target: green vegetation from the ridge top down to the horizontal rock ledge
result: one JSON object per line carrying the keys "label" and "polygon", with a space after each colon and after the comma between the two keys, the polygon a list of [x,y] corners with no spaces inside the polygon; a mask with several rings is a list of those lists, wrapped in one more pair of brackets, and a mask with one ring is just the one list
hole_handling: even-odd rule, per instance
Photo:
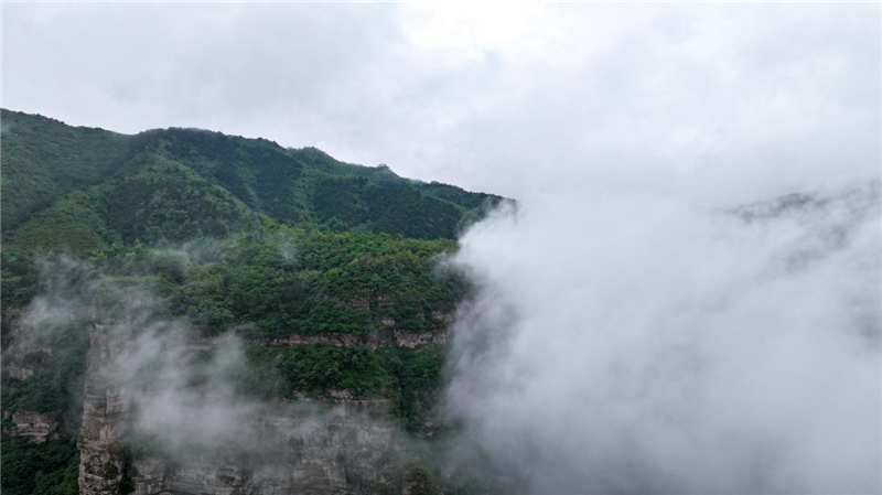
{"label": "green vegetation from the ridge top down to the horizontal rock ledge", "polygon": [[[34,255],[71,252],[153,278],[172,311],[209,331],[439,327],[466,288],[437,273],[437,257],[499,200],[263,139],[1,117],[4,308],[33,297]],[[170,250],[181,243],[218,255]]]}

